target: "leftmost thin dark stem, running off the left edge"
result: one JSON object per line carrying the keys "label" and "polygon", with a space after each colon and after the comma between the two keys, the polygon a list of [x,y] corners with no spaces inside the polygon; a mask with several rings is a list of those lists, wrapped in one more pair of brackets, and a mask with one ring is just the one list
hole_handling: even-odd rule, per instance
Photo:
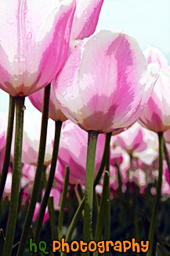
{"label": "leftmost thin dark stem, running off the left edge", "polygon": [[6,133],[6,144],[5,144],[5,156],[2,167],[2,176],[0,182],[0,202],[2,200],[2,195],[5,187],[6,177],[9,170],[9,161],[11,154],[11,144],[13,139],[13,120],[15,113],[15,98],[9,95],[9,119],[8,119],[8,128]]}

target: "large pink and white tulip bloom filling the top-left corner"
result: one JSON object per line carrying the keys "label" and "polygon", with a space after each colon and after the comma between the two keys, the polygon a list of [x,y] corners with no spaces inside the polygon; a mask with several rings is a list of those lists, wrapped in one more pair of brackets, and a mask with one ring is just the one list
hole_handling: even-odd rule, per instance
{"label": "large pink and white tulip bloom filling the top-left corner", "polygon": [[74,0],[0,2],[0,87],[27,96],[60,71],[70,42]]}

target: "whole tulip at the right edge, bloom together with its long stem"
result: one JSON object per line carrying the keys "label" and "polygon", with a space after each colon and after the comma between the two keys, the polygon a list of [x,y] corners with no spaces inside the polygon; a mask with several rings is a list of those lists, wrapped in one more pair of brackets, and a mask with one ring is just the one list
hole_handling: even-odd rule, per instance
{"label": "whole tulip at the right edge, bloom together with its long stem", "polygon": [[[170,69],[165,66],[165,58],[162,57],[158,51],[146,50],[146,58],[148,63],[157,60],[160,67],[160,75],[155,83],[154,90],[147,102],[143,113],[139,119],[140,124],[153,132],[157,132],[159,139],[159,175],[157,180],[157,196],[154,201],[153,213],[150,222],[150,232],[148,239],[150,240],[150,249],[148,256],[152,255],[152,248],[154,244],[154,227],[157,215],[158,203],[161,198],[161,184],[163,173],[163,152],[164,140],[163,132],[170,128]],[[157,58],[155,58],[157,56]]]}

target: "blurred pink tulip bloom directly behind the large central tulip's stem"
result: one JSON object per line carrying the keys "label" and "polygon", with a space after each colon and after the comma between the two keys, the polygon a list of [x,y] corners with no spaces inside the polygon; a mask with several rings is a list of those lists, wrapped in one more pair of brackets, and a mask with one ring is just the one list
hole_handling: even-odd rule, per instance
{"label": "blurred pink tulip bloom directly behind the large central tulip's stem", "polygon": [[[104,143],[105,136],[99,135],[96,147],[95,173],[99,169],[103,156]],[[80,181],[85,181],[87,144],[88,133],[81,130],[78,125],[71,121],[66,121],[66,125],[62,128],[60,136],[60,148],[58,155],[60,165],[57,165],[57,168],[60,168],[61,174],[64,176],[65,166],[70,166],[71,184],[78,184]]]}

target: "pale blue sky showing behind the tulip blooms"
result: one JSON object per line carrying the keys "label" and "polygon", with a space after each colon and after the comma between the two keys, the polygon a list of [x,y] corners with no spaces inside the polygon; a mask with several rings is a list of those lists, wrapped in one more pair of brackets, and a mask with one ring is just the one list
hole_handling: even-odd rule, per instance
{"label": "pale blue sky showing behind the tulip blooms", "polygon": [[[132,35],[142,50],[156,46],[170,65],[170,0],[104,0],[96,31],[101,29]],[[8,112],[8,104],[9,96],[0,89],[0,111]],[[26,107],[31,109],[28,100]]]}

